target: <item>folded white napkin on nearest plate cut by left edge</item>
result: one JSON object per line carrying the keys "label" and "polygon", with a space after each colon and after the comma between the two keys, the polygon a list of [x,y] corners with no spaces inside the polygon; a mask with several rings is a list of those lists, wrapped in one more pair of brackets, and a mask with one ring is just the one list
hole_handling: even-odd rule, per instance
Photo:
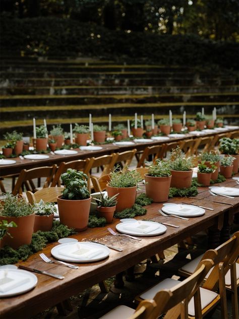
{"label": "folded white napkin on nearest plate cut by left edge", "polygon": [[29,278],[19,278],[16,273],[7,269],[0,271],[0,292],[4,293],[29,282]]}

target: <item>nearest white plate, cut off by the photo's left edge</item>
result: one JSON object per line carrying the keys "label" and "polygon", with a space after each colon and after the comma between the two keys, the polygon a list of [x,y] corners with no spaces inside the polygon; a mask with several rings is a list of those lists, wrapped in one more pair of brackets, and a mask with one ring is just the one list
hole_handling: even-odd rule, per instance
{"label": "nearest white plate, cut off by the photo's left edge", "polygon": [[[37,277],[25,270],[21,269],[1,269],[0,270],[0,286],[3,288],[3,281],[7,276],[7,281],[9,289],[6,288],[6,291],[0,290],[0,298],[12,297],[15,295],[22,294],[34,288],[37,284]],[[3,281],[2,281],[3,280]],[[11,288],[12,287],[12,288]]]}

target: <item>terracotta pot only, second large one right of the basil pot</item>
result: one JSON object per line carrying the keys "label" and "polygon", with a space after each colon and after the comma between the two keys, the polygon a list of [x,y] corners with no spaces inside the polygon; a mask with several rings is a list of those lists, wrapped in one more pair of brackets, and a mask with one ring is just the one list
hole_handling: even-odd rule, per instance
{"label": "terracotta pot only, second large one right of the basil pot", "polygon": [[168,177],[153,177],[145,175],[146,195],[152,198],[153,201],[161,202],[168,200],[169,187],[171,176]]}

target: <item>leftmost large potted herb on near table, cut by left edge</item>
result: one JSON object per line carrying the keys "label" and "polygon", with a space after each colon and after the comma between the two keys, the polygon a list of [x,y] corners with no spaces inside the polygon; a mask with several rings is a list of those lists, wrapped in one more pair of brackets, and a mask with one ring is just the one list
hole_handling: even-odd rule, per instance
{"label": "leftmost large potted herb on near table, cut by left edge", "polygon": [[8,245],[16,249],[31,243],[35,214],[33,207],[24,198],[17,198],[10,193],[4,195],[0,204],[0,222],[3,220],[14,222],[18,227],[9,229],[12,237],[5,236],[1,241],[2,247]]}

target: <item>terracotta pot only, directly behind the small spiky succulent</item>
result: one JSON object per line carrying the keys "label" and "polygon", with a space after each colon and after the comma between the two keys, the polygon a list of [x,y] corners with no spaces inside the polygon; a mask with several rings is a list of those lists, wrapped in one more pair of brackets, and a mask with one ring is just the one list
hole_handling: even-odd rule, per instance
{"label": "terracotta pot only, directly behind the small spiky succulent", "polygon": [[110,197],[118,193],[115,210],[122,211],[123,209],[130,208],[134,205],[137,194],[137,186],[111,187],[107,184],[106,191]]}

